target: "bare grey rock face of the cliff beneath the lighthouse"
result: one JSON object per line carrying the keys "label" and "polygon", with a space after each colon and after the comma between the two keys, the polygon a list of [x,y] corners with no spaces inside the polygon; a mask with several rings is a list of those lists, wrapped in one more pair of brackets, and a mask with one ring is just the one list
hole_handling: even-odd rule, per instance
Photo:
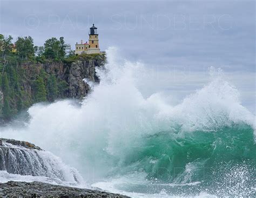
{"label": "bare grey rock face of the cliff beneath the lighthouse", "polygon": [[96,67],[103,67],[105,63],[106,58],[104,54],[79,56],[77,60],[69,63],[57,62],[36,65],[25,63],[22,67],[25,69],[26,76],[29,79],[24,84],[24,89],[31,93],[30,79],[33,79],[33,76],[38,76],[43,69],[46,73],[53,74],[58,79],[68,83],[68,91],[66,91],[65,97],[82,99],[90,91],[90,86],[84,79],[92,83],[98,83],[99,79],[95,69]]}

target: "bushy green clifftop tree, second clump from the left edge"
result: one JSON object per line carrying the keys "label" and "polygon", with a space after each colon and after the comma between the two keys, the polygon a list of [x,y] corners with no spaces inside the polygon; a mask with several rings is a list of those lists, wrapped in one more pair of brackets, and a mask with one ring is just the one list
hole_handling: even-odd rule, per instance
{"label": "bushy green clifftop tree, second clump from the left edge", "polygon": [[18,37],[15,44],[19,57],[22,59],[28,59],[35,56],[35,47],[33,39],[30,36],[24,38]]}

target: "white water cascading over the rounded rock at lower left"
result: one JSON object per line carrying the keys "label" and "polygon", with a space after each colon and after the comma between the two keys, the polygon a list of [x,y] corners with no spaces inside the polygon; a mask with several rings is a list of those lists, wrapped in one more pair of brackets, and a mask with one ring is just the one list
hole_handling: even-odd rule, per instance
{"label": "white water cascading over the rounded rock at lower left", "polygon": [[75,168],[65,165],[52,153],[24,141],[0,139],[0,170],[0,177],[8,175],[14,180],[15,175],[23,175],[23,180],[25,175],[29,175],[30,179],[48,177],[49,181],[60,184],[83,183],[82,176]]}

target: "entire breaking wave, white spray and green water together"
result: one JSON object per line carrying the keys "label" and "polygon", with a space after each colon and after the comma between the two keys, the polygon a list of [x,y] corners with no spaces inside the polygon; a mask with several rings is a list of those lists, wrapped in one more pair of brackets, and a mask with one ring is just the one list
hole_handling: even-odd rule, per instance
{"label": "entire breaking wave, white spray and green water together", "polygon": [[208,85],[172,105],[161,94],[144,98],[137,86],[144,66],[117,57],[109,49],[100,84],[81,106],[34,105],[26,127],[1,136],[48,148],[113,192],[254,196],[255,116],[223,72],[211,68]]}

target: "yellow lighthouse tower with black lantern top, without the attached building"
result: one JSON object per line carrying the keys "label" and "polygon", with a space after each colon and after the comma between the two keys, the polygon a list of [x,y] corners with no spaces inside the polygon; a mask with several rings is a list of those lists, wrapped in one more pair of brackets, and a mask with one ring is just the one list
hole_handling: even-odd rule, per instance
{"label": "yellow lighthouse tower with black lantern top, without the attached building", "polygon": [[100,53],[99,35],[96,26],[92,24],[89,31],[89,49],[87,53]]}

